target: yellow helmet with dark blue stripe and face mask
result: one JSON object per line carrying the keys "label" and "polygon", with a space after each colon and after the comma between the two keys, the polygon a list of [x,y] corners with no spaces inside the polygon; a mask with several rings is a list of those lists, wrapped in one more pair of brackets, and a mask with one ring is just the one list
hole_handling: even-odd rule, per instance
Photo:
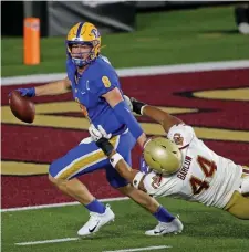
{"label": "yellow helmet with dark blue stripe and face mask", "polygon": [[[92,48],[87,59],[72,56],[72,45],[86,44]],[[84,66],[93,62],[101,52],[101,34],[96,27],[89,22],[80,22],[72,27],[66,38],[66,53],[76,66]]]}

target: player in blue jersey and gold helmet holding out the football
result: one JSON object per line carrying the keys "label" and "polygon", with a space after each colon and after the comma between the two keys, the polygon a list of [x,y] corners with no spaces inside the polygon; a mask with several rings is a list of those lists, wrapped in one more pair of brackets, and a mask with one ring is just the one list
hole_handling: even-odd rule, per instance
{"label": "player in blue jersey and gold helmet holding out the football", "polygon": [[[58,82],[33,88],[19,88],[22,96],[59,95],[72,92],[75,102],[91,125],[102,125],[112,134],[111,143],[131,165],[131,150],[136,141],[143,147],[146,135],[123,99],[118,76],[101,52],[101,35],[89,22],[75,24],[66,39],[68,76]],[[77,179],[79,176],[105,168],[112,187],[128,196],[163,222],[175,219],[155,199],[132,187],[112,168],[107,157],[91,137],[54,160],[49,168],[49,179],[61,191],[81,202],[90,211],[90,220],[79,230],[89,235],[114,220],[114,213],[104,206]]]}

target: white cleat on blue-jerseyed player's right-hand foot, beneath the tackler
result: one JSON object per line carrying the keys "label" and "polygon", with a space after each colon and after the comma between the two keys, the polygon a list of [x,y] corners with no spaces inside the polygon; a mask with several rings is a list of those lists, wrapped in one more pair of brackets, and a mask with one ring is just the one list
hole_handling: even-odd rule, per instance
{"label": "white cleat on blue-jerseyed player's right-hand foot, beneath the tackler", "polygon": [[176,217],[172,222],[159,222],[155,229],[145,232],[146,235],[164,235],[167,233],[181,233],[184,225]]}

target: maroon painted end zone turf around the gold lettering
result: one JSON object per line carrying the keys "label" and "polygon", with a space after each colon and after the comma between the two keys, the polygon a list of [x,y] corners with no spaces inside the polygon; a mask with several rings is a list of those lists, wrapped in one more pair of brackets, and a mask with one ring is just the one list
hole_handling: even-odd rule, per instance
{"label": "maroon painted end zone turf around the gold lettering", "polygon": [[[2,87],[2,105],[8,104],[8,93],[21,85]],[[33,86],[30,84],[30,86]],[[249,103],[242,101],[206,99],[193,97],[193,92],[228,90],[249,86],[249,70],[214,71],[167,74],[156,76],[123,77],[124,93],[153,105],[198,108],[198,113],[184,114],[187,124],[201,127],[249,130]],[[35,103],[70,101],[71,94],[60,97],[35,97]],[[79,114],[80,115],[80,114]],[[77,116],[77,115],[76,115]],[[143,117],[141,122],[149,122]],[[2,159],[49,164],[64,155],[87,136],[85,130],[32,127],[2,124]],[[13,144],[14,143],[14,144]],[[206,140],[219,155],[239,164],[248,164],[248,143]],[[134,166],[138,165],[138,149],[133,151]],[[82,176],[97,198],[121,196],[112,189],[104,172]],[[2,176],[2,208],[72,201],[48,181],[46,176]]]}

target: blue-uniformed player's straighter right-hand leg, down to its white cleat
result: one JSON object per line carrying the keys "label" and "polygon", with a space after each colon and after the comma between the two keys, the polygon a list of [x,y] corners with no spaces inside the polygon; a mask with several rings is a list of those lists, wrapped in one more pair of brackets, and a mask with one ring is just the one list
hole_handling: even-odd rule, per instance
{"label": "blue-uniformed player's straighter right-hand leg, down to its white cleat", "polygon": [[[127,164],[131,166],[131,153],[126,154],[125,150],[134,138],[127,133],[122,136],[122,141],[117,146],[117,151],[124,157]],[[112,187],[120,190],[125,196],[129,197],[136,203],[149,211],[159,223],[154,230],[146,231],[147,235],[163,235],[166,233],[178,233],[183,231],[183,223],[178,218],[172,216],[163,206],[160,206],[154,198],[146,195],[144,191],[132,187],[127,180],[121,177],[121,175],[110,165],[106,167],[106,178]]]}

